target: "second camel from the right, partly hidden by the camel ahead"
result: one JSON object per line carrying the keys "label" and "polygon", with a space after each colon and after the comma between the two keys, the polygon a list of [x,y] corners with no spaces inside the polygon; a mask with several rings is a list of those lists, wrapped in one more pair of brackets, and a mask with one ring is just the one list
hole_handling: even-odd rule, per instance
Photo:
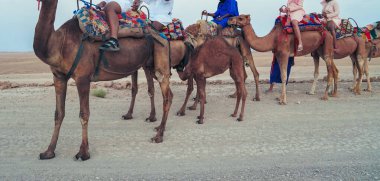
{"label": "second camel from the right, partly hidden by the camel ahead", "polygon": [[[365,49],[365,41],[356,36],[353,35],[352,37],[346,37],[343,39],[340,39],[336,42],[337,47],[339,48],[334,52],[334,59],[342,59],[345,57],[350,56],[352,60],[352,66],[353,66],[353,72],[354,72],[354,85],[352,87],[352,91],[355,94],[360,94],[360,86],[363,79],[363,64],[364,60],[367,57],[367,52]],[[314,59],[314,81],[313,85],[311,86],[310,92],[308,94],[314,95],[315,94],[315,87],[318,81],[319,76],[319,53],[313,52],[312,53],[313,59]],[[359,70],[359,79],[356,79],[355,77],[355,70]],[[337,70],[336,70],[337,71]],[[334,91],[332,96],[337,96],[336,87],[334,86]]]}

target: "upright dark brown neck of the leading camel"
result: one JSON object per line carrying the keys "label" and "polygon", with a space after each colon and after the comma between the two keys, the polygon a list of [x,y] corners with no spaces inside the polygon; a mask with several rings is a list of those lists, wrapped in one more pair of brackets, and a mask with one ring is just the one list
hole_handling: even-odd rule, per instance
{"label": "upright dark brown neck of the leading camel", "polygon": [[54,21],[58,0],[42,0],[41,11],[35,28],[33,48],[38,58],[47,64],[47,59],[52,55],[49,53],[49,40],[54,34]]}

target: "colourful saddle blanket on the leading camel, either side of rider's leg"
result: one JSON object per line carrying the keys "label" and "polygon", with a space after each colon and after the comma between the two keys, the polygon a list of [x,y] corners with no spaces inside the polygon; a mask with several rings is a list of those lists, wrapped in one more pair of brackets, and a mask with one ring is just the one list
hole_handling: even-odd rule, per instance
{"label": "colourful saddle blanket on the leading camel, either side of rider's leg", "polygon": [[[104,13],[95,8],[83,7],[77,11],[76,17],[83,33],[95,40],[104,40],[109,36],[110,27]],[[118,37],[142,36],[142,28],[148,23],[147,16],[142,11],[127,11],[119,15]]]}

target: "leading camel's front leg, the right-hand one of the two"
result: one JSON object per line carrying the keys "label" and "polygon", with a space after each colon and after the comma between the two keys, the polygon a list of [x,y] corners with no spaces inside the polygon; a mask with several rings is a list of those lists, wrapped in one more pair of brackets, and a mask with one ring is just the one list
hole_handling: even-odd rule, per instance
{"label": "leading camel's front leg, the right-hand one of the two", "polygon": [[79,119],[82,124],[82,144],[80,146],[79,152],[75,155],[75,158],[81,159],[83,161],[90,159],[89,145],[88,145],[88,121],[90,118],[90,106],[89,106],[89,95],[90,95],[90,80],[78,79],[75,81],[77,84],[77,89],[79,93],[80,102],[80,113]]}

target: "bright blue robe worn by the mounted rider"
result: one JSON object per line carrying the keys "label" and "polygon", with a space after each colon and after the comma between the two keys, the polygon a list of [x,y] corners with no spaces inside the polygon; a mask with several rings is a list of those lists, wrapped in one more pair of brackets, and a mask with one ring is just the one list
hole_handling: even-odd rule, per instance
{"label": "bright blue robe worn by the mounted rider", "polygon": [[[214,19],[212,20],[214,23],[225,28],[228,26],[228,19],[230,17],[239,16],[239,10],[237,6],[236,0],[225,0],[224,2],[220,2],[218,4],[218,10],[214,13]],[[222,20],[218,20],[218,17],[222,17],[226,14],[229,14],[229,17],[225,17]]]}

